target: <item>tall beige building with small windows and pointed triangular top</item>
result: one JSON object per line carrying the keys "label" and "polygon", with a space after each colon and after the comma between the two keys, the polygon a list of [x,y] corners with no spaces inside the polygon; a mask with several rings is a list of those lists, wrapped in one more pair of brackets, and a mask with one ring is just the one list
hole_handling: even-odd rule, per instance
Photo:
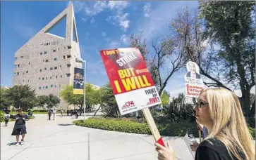
{"label": "tall beige building with small windows and pointed triangular top", "polygon": [[[66,37],[50,34],[49,30],[65,17]],[[80,48],[73,4],[20,47],[15,58],[13,85],[28,84],[37,95],[59,96],[63,86],[73,84],[74,67],[82,67],[75,62]],[[68,109],[66,102],[61,100],[59,109]]]}

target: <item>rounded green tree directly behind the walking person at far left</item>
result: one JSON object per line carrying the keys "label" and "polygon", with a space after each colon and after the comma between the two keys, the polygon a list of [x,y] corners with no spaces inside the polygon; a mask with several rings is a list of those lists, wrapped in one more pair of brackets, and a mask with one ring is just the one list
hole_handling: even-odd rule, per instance
{"label": "rounded green tree directly behind the walking person at far left", "polygon": [[30,109],[37,104],[35,89],[28,85],[16,85],[6,91],[6,97],[12,100],[16,108]]}

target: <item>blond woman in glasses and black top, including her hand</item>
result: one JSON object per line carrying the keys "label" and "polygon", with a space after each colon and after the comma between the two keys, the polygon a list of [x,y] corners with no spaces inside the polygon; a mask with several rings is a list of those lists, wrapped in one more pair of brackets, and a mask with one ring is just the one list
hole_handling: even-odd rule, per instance
{"label": "blond woman in glasses and black top, including her hand", "polygon": [[[255,144],[234,93],[225,88],[203,89],[195,111],[197,123],[208,130],[197,147],[195,160],[255,159]],[[159,160],[174,160],[171,147],[155,145]]]}

